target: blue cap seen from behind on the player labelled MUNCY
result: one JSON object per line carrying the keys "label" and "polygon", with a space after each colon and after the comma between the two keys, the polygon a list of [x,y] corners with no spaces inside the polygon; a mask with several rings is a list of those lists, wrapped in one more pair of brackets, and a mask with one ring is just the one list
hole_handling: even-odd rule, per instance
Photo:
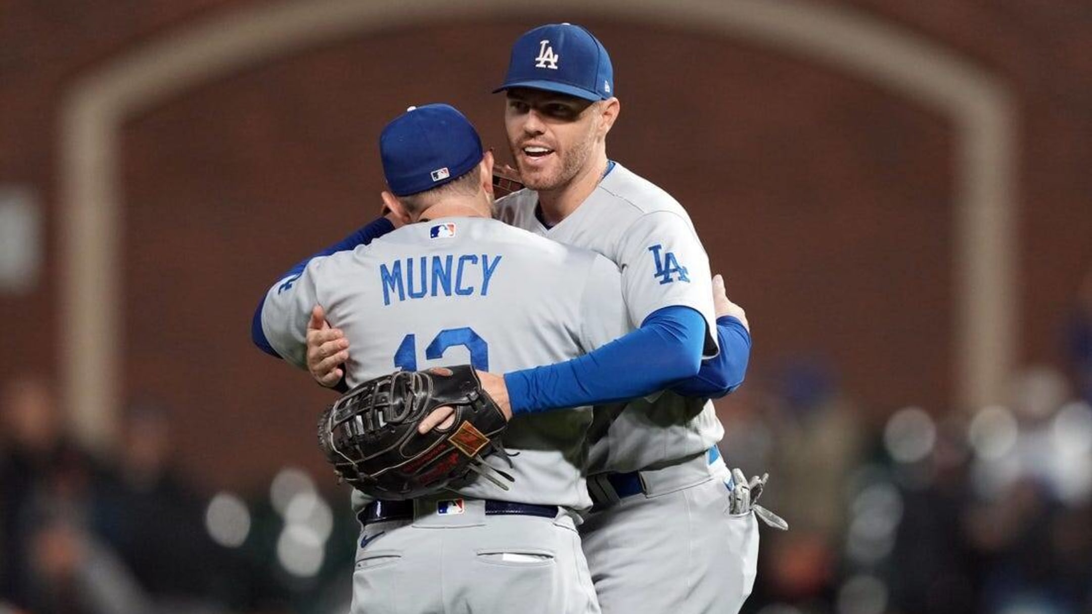
{"label": "blue cap seen from behind on the player labelled MUNCY", "polygon": [[400,197],[453,181],[483,155],[477,130],[451,105],[410,107],[379,135],[387,186]]}

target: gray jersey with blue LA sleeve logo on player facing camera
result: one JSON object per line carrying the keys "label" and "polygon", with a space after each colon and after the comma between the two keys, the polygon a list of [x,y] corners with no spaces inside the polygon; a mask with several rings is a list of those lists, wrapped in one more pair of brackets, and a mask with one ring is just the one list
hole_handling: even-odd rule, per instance
{"label": "gray jersey with blue LA sleeve logo on player facing camera", "polygon": [[[595,191],[556,226],[546,228],[538,221],[537,203],[536,192],[521,190],[497,201],[496,216],[614,261],[621,270],[622,296],[637,326],[663,307],[698,310],[707,323],[705,355],[715,355],[709,257],[690,216],[674,198],[615,164]],[[708,450],[724,435],[711,402],[670,391],[595,412],[589,474],[669,463]]]}

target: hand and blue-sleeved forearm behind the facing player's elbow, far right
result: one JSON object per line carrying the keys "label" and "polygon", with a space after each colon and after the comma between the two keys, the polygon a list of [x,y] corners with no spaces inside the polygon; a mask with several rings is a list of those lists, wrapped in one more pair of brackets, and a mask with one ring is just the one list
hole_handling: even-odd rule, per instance
{"label": "hand and blue-sleeved forearm behind the facing player's elbow, far right", "polygon": [[713,306],[721,351],[701,362],[698,375],[672,386],[674,392],[684,397],[719,399],[739,388],[747,375],[751,349],[747,312],[728,299],[721,275],[713,276]]}

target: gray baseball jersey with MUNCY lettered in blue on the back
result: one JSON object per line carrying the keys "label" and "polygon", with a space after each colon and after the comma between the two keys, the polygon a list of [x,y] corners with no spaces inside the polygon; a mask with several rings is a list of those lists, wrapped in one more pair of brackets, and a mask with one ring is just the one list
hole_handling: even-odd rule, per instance
{"label": "gray baseball jersey with MUNCY lettered in blue on the back", "polygon": [[[488,219],[412,224],[353,251],[311,260],[270,288],[262,328],[288,362],[306,367],[311,308],[344,331],[349,386],[397,368],[473,364],[506,373],[566,361],[629,330],[609,260]],[[519,415],[505,433],[515,482],[477,480],[468,497],[584,508],[581,476],[592,412]]]}

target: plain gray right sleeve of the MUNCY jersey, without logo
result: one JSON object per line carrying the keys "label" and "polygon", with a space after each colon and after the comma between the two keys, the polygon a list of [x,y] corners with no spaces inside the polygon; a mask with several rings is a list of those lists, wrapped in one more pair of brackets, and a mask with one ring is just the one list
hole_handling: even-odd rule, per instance
{"label": "plain gray right sleeve of the MUNCY jersey, without logo", "polygon": [[610,259],[596,255],[580,299],[580,343],[591,352],[633,330],[621,294],[621,273]]}

